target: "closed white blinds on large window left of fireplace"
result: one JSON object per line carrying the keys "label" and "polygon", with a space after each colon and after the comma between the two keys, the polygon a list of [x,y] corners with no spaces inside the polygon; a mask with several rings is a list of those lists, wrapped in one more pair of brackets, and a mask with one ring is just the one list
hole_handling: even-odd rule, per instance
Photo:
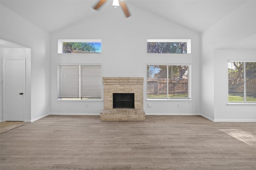
{"label": "closed white blinds on large window left of fireplace", "polygon": [[100,100],[101,65],[58,65],[58,99]]}

